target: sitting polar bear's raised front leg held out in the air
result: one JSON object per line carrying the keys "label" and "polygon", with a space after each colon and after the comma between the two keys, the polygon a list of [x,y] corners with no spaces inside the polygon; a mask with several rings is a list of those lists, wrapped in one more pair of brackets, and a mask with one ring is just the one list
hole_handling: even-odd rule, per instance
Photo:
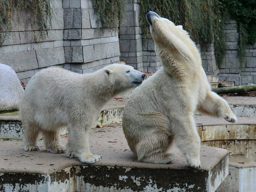
{"label": "sitting polar bear's raised front leg held out in the air", "polygon": [[237,121],[237,117],[231,111],[228,103],[212,91],[207,92],[205,99],[199,104],[197,110],[207,115],[223,117],[231,123]]}

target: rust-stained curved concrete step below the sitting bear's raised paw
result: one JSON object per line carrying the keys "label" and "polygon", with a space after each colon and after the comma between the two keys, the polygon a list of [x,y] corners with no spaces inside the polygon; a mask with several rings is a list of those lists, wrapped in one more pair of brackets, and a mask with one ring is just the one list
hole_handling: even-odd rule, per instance
{"label": "rust-stained curved concrete step below the sitting bear's raised paw", "polygon": [[238,117],[237,123],[222,118],[196,115],[201,144],[225,148],[230,155],[244,155],[256,161],[256,117]]}

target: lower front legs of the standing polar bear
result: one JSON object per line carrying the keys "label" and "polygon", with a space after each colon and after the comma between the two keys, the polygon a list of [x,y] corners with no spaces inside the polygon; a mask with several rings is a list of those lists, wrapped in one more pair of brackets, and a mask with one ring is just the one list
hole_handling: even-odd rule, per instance
{"label": "lower front legs of the standing polar bear", "polygon": [[82,163],[95,163],[100,161],[102,157],[90,152],[89,145],[90,129],[79,129],[74,131],[69,129],[69,141],[67,143],[66,156],[70,158],[78,158]]}

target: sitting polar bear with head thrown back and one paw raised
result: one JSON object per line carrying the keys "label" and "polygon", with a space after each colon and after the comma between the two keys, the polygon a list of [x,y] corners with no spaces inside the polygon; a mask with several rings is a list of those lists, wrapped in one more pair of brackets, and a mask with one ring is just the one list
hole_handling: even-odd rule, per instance
{"label": "sitting polar bear with head thrown back and one paw raised", "polygon": [[139,161],[174,160],[175,141],[188,164],[200,167],[200,137],[194,113],[237,121],[228,103],[211,92],[195,43],[182,26],[147,11],[146,19],[162,67],[136,88],[123,110],[123,131]]}

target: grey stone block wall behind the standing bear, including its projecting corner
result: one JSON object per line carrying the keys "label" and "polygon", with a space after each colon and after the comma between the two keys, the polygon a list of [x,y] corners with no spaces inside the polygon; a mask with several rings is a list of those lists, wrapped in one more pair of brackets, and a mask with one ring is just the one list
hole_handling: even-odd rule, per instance
{"label": "grey stone block wall behind the standing bear, including its projecting corner", "polygon": [[0,47],[0,63],[11,66],[22,82],[45,67],[88,73],[119,61],[118,28],[97,25],[92,0],[55,0],[53,9],[52,25],[45,38],[37,39],[40,43],[20,12]]}

